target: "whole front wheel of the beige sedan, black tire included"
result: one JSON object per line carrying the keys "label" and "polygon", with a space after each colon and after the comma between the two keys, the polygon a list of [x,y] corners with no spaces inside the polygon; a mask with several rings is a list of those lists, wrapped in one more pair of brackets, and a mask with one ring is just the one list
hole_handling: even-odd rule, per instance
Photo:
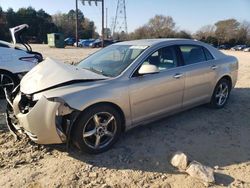
{"label": "whole front wheel of the beige sedan, black tire included", "polygon": [[73,143],[82,151],[98,154],[110,149],[121,135],[121,116],[109,105],[83,111],[73,127]]}

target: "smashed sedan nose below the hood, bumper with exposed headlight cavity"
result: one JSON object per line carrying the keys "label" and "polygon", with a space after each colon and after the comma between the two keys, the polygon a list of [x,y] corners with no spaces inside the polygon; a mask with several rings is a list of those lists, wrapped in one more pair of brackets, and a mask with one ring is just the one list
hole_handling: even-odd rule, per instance
{"label": "smashed sedan nose below the hood, bumper with exposed headlight cavity", "polygon": [[7,95],[7,125],[16,138],[19,132],[38,144],[59,144],[69,140],[71,126],[79,112],[62,99],[42,96],[34,100],[32,95],[20,91]]}

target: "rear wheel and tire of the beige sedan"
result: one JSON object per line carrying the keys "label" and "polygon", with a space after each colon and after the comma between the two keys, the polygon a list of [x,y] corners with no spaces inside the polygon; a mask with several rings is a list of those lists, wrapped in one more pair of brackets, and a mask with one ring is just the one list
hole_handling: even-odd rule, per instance
{"label": "rear wheel and tire of the beige sedan", "polygon": [[221,79],[215,86],[213,96],[210,101],[210,106],[216,109],[223,108],[228,101],[230,92],[230,82],[227,79]]}

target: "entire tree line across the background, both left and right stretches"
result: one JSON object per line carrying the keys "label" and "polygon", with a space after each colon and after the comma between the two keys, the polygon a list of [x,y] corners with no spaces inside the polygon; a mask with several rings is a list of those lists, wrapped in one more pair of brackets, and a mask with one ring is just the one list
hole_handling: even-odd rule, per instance
{"label": "entire tree line across the background, both left and right stretches", "polygon": [[[95,23],[85,17],[81,10],[78,11],[78,18],[79,38],[99,37]],[[0,40],[10,41],[9,28],[23,23],[30,26],[28,38],[39,43],[47,42],[47,33],[60,32],[65,37],[75,36],[75,10],[49,15],[43,9],[36,11],[32,7],[20,8],[16,12],[11,8],[3,11],[0,7]],[[105,31],[110,37],[110,29],[105,28]],[[113,34],[113,39],[116,40],[145,38],[195,38],[216,46],[250,45],[250,22],[239,22],[236,19],[220,20],[214,25],[203,26],[196,33],[191,34],[185,30],[179,30],[171,16],[156,15],[131,33]]]}

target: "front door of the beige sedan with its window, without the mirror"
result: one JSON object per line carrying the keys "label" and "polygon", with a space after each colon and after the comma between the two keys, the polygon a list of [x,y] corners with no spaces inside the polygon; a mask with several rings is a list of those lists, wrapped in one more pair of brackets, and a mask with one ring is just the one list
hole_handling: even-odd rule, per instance
{"label": "front door of the beige sedan with its window, without the mirror", "polygon": [[139,75],[130,79],[129,94],[133,123],[180,109],[185,75],[179,66],[176,47],[164,47],[149,55],[141,65],[157,66],[159,73]]}

